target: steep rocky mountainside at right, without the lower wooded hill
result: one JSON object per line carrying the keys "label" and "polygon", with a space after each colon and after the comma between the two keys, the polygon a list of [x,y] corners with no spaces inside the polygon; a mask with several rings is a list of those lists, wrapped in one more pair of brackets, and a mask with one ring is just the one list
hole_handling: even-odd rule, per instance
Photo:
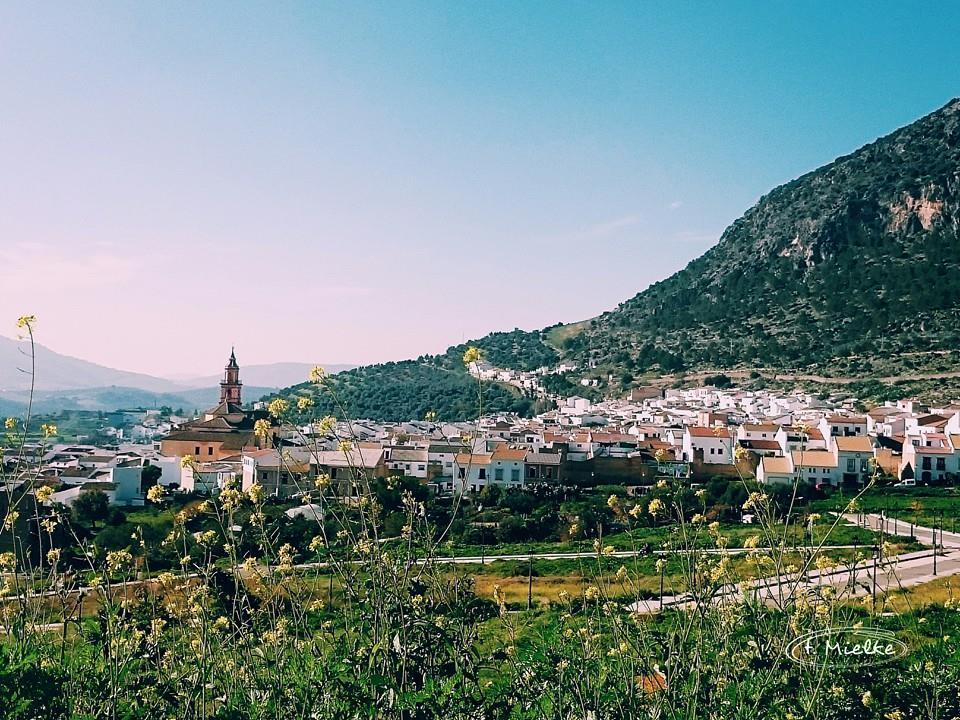
{"label": "steep rocky mountainside at right, without the lower wooded hill", "polygon": [[650,365],[806,364],[960,339],[960,100],[776,188],[568,353]]}

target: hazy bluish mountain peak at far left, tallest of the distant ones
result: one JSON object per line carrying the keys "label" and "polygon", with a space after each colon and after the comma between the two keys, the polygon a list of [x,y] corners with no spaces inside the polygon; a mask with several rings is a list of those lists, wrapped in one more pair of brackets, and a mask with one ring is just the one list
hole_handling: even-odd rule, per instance
{"label": "hazy bluish mountain peak at far left, tallest of the distant ones", "polygon": [[[29,346],[26,342],[0,336],[0,391],[22,391],[30,387]],[[141,373],[115,370],[79,358],[61,355],[43,345],[35,349],[38,390],[73,390],[117,385],[151,392],[183,389],[169,380]]]}

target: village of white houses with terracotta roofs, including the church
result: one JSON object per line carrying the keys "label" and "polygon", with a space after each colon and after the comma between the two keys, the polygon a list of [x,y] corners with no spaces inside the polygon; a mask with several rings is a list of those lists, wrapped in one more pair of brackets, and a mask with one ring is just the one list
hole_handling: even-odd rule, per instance
{"label": "village of white houses with terracotta roofs, including the church", "polygon": [[[535,373],[488,366],[473,372],[491,382],[536,382]],[[297,427],[272,416],[263,402],[244,409],[231,354],[216,407],[194,418],[169,409],[118,411],[104,417],[116,423],[102,431],[113,442],[28,444],[31,466],[19,472],[53,489],[48,504],[67,507],[88,490],[104,492],[111,504],[142,505],[154,484],[201,495],[234,483],[244,490],[259,485],[288,499],[318,476],[348,497],[360,475],[411,478],[444,495],[487,486],[611,484],[643,493],[664,477],[755,478],[765,485],[799,479],[829,493],[863,487],[875,475],[911,487],[953,485],[960,474],[957,403],[929,407],[906,399],[858,412],[856,399],[825,401],[802,391],[653,385],[623,399],[555,402],[554,410],[533,418]]]}

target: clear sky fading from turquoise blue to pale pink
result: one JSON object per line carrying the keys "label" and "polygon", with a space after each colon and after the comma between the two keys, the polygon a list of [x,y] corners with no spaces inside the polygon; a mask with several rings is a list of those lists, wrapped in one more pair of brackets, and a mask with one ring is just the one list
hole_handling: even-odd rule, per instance
{"label": "clear sky fading from turquoise blue to pale pink", "polygon": [[0,335],[154,375],[595,316],[960,95],[960,4],[0,4]]}

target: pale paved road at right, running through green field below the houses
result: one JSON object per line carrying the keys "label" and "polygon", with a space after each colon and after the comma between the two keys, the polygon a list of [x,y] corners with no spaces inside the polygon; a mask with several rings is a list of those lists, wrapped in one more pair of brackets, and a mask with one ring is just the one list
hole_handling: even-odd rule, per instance
{"label": "pale paved road at right, running through green field below the houses", "polygon": [[[852,525],[858,524],[856,515],[843,517]],[[860,523],[861,525],[874,530],[885,528],[886,523],[892,526],[892,521],[880,515],[868,514],[860,517],[864,521]],[[872,559],[867,559],[850,569],[812,571],[805,578],[780,576],[755,580],[747,585],[745,591],[735,586],[728,586],[721,588],[714,597],[714,601],[742,598],[746,592],[749,596],[761,599],[768,604],[782,606],[792,597],[816,593],[818,588],[827,585],[833,586],[838,594],[845,597],[863,597],[874,593],[879,595],[889,590],[909,588],[960,573],[960,534],[945,532],[941,542],[940,531],[937,530],[939,552],[936,556],[932,549],[933,534],[932,528],[914,526],[914,536],[920,542],[931,545],[931,549],[899,555],[876,565]],[[936,574],[934,574],[934,568],[936,568]],[[679,608],[690,604],[689,596],[669,595],[664,596],[662,603],[659,599],[641,600],[634,603],[631,609],[641,613],[654,613],[661,607]]]}

